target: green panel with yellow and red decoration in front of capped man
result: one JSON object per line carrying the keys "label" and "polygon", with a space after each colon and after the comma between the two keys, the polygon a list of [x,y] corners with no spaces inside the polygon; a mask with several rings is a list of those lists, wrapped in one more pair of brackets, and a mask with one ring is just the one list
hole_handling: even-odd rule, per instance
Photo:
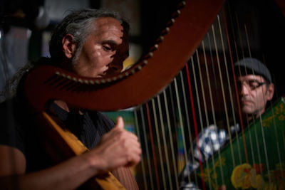
{"label": "green panel with yellow and red decoration in front of capped man", "polygon": [[197,174],[210,189],[219,189],[222,184],[227,189],[285,189],[284,98],[205,162]]}

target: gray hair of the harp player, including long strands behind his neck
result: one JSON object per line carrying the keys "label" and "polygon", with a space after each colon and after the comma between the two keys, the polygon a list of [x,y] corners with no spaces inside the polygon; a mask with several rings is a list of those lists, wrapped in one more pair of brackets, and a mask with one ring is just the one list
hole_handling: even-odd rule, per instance
{"label": "gray hair of the harp player, including long strands behind his neck", "polygon": [[[79,53],[81,52],[83,43],[86,41],[86,37],[93,30],[93,21],[100,17],[111,17],[117,19],[122,24],[124,29],[123,43],[128,47],[130,25],[118,13],[99,9],[81,9],[71,11],[71,14],[68,14],[68,16],[66,16],[53,30],[51,41],[49,43],[51,59],[41,58],[36,61],[28,62],[23,68],[20,68],[10,80],[6,81],[4,90],[0,91],[0,102],[17,94],[18,85],[22,76],[28,73],[28,70],[33,68],[34,65],[56,65],[63,61],[64,54],[62,49],[62,39],[66,34],[73,35],[74,43],[76,43],[76,53],[73,60],[71,60],[72,63],[75,63]],[[128,52],[126,53],[128,54]],[[128,57],[128,55],[124,56],[124,58],[126,57]]]}

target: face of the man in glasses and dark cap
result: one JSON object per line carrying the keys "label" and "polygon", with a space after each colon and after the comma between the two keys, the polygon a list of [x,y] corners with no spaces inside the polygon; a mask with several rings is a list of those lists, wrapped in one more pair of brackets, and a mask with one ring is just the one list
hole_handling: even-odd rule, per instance
{"label": "face of the man in glasses and dark cap", "polygon": [[266,102],[273,96],[274,87],[271,85],[267,88],[264,78],[260,75],[239,76],[237,86],[242,113],[261,115],[265,110]]}

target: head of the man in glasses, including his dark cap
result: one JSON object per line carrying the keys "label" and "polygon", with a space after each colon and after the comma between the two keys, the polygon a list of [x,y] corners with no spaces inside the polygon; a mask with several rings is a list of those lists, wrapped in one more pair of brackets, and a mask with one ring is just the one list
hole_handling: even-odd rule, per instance
{"label": "head of the man in glasses, including his dark cap", "polygon": [[250,122],[259,117],[274,95],[274,84],[266,66],[255,58],[234,63],[242,114]]}

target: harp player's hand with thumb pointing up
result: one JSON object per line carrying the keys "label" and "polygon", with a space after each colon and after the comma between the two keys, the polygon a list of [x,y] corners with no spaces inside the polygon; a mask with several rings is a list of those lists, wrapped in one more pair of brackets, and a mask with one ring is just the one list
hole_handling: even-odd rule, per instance
{"label": "harp player's hand with thumb pointing up", "polygon": [[115,127],[103,135],[90,154],[94,169],[101,173],[138,164],[141,152],[138,137],[124,130],[123,118],[118,117]]}

